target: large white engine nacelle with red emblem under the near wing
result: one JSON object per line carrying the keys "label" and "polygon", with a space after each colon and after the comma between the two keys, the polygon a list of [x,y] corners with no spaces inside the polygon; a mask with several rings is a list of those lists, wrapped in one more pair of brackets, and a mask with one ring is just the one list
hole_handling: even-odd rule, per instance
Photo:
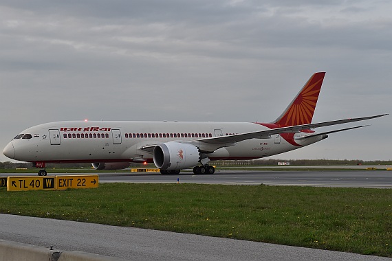
{"label": "large white engine nacelle with red emblem under the near wing", "polygon": [[182,170],[197,165],[199,149],[190,144],[166,142],[155,146],[153,159],[161,170]]}

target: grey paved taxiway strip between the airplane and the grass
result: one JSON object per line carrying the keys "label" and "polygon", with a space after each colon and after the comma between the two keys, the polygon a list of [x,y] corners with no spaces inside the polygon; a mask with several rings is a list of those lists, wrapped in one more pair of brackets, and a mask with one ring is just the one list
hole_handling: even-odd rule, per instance
{"label": "grey paved taxiway strip between the airplane and the grass", "polygon": [[300,185],[316,187],[392,188],[392,171],[246,171],[218,170],[215,174],[101,174],[100,182],[206,183],[227,185]]}

